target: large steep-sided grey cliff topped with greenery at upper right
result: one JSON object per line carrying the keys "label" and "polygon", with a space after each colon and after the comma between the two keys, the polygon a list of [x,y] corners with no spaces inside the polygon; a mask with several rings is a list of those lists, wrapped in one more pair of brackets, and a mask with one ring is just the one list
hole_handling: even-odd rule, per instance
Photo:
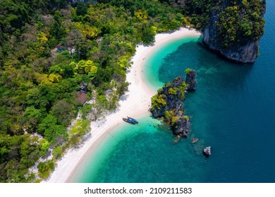
{"label": "large steep-sided grey cliff topped with greenery at upper right", "polygon": [[254,63],[264,34],[265,0],[213,1],[204,43],[226,58]]}

